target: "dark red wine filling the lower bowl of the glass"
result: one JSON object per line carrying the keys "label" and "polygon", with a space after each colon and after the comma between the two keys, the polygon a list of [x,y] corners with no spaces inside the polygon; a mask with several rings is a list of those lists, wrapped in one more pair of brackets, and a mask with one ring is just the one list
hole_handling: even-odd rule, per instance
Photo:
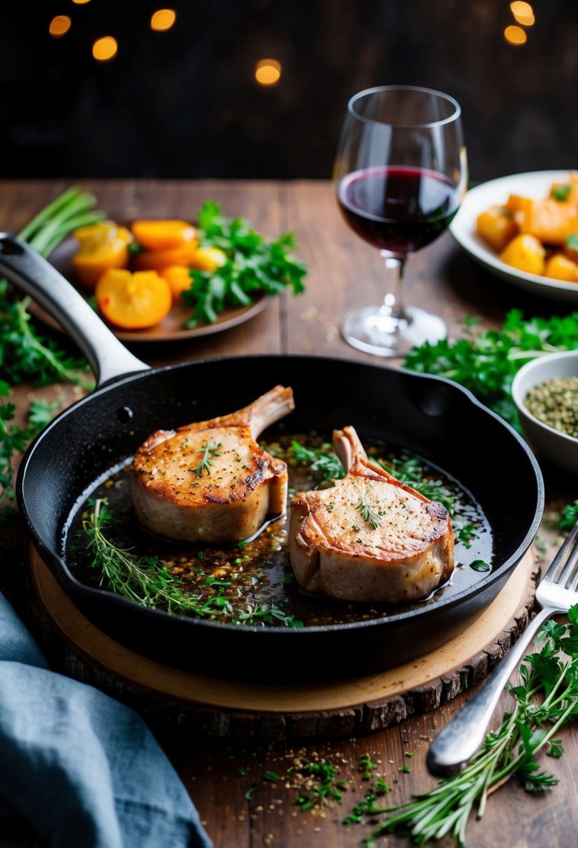
{"label": "dark red wine filling the lower bowl of the glass", "polygon": [[353,232],[400,257],[433,242],[459,209],[458,188],[425,168],[355,171],[342,180],[337,199]]}

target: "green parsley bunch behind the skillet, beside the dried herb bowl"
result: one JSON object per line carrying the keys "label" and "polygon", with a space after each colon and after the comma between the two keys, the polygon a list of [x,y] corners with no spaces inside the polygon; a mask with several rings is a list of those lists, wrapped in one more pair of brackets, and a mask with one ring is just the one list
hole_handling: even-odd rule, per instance
{"label": "green parsley bunch behind the skillet, beside the dried herb bowl", "polygon": [[475,397],[520,429],[510,389],[522,365],[542,354],[578,348],[578,312],[565,317],[531,318],[510,310],[500,330],[475,332],[479,319],[464,318],[466,335],[410,350],[410,371],[459,382]]}

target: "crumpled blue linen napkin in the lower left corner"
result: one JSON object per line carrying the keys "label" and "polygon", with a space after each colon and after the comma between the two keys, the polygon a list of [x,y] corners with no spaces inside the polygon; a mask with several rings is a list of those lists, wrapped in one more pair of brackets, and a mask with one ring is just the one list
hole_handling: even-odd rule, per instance
{"label": "crumpled blue linen napkin in the lower left corner", "polygon": [[0,815],[50,848],[210,848],[136,712],[51,672],[0,594]]}

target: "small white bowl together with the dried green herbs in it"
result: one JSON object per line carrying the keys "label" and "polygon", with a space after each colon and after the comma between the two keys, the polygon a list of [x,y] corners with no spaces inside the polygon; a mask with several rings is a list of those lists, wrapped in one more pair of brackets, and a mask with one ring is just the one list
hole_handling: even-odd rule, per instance
{"label": "small white bowl together with the dried green herbs in it", "polygon": [[523,365],[512,398],[536,455],[578,474],[578,350],[544,354]]}

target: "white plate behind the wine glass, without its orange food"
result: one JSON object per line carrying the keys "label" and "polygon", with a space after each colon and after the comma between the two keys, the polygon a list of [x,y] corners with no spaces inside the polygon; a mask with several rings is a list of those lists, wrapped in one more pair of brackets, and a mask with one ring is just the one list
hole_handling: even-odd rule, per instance
{"label": "white plate behind the wine glass, without its orange food", "polygon": [[466,193],[458,214],[449,226],[460,247],[487,271],[503,277],[514,286],[555,300],[578,304],[578,283],[553,280],[537,274],[526,274],[511,265],[505,265],[480,237],[475,234],[475,220],[481,212],[491,206],[504,204],[510,194],[524,197],[547,198],[553,182],[567,182],[569,170],[536,170],[528,174],[502,176],[470,188]]}

